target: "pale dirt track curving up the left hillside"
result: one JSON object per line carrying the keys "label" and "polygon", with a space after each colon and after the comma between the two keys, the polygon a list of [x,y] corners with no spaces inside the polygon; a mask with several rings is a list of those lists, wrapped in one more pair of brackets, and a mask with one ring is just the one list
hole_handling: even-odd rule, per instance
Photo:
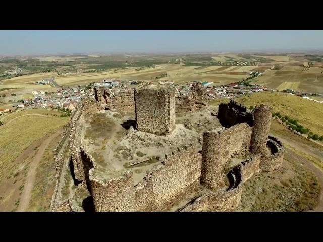
{"label": "pale dirt track curving up the left hillside", "polygon": [[[30,115],[30,114],[27,114],[27,115]],[[56,131],[55,133],[50,135],[47,139],[45,139],[42,142],[42,144],[38,147],[38,151],[37,151],[33,161],[30,163],[30,169],[28,170],[28,174],[27,174],[26,181],[25,181],[25,186],[22,191],[22,195],[20,198],[20,203],[19,203],[19,207],[18,207],[17,211],[22,212],[22,211],[27,210],[28,205],[29,205],[29,201],[31,198],[31,191],[32,191],[33,184],[35,181],[37,166],[41,160],[41,157],[43,156],[43,154],[45,152],[45,149],[49,145],[50,141],[53,138],[55,138],[56,136],[60,135],[61,132],[62,132],[61,130]]]}

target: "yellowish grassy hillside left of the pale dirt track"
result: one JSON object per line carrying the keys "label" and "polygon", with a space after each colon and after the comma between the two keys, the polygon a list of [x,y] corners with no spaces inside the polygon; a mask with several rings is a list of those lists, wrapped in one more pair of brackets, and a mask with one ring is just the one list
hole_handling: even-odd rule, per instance
{"label": "yellowish grassy hillside left of the pale dirt track", "polygon": [[[49,115],[46,115],[49,114]],[[28,151],[28,147],[45,137],[49,133],[55,132],[59,127],[68,122],[68,118],[56,117],[60,115],[58,111],[45,109],[32,109],[9,114],[1,119],[3,125],[0,126],[0,211],[15,210],[19,206],[22,190],[18,188],[24,186],[25,179],[32,162],[32,153],[35,149]],[[24,152],[26,154],[24,154]],[[17,158],[21,156],[18,160]],[[32,167],[36,169],[37,167]],[[8,193],[12,189],[13,193]],[[15,199],[16,204],[12,202]]]}

